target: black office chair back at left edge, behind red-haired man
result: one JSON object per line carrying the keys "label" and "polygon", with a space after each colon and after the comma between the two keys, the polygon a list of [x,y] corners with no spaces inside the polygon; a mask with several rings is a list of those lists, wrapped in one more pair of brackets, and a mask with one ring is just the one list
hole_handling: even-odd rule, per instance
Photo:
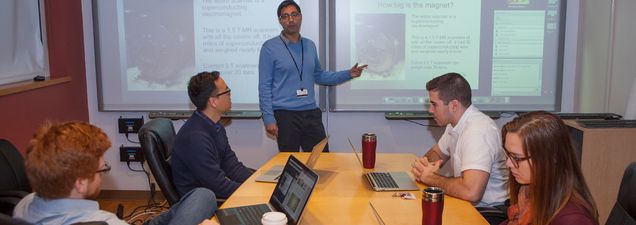
{"label": "black office chair back at left edge, behind red-haired man", "polygon": [[0,139],[0,213],[13,215],[15,205],[30,192],[22,155],[11,142]]}

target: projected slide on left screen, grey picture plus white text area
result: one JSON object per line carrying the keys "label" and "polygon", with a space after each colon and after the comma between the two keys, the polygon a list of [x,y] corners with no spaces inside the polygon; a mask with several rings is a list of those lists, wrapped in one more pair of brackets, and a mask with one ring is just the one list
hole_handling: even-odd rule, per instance
{"label": "projected slide on left screen, grey picture plus white text area", "polygon": [[[196,72],[218,70],[233,84],[234,93],[254,93],[260,46],[280,32],[275,1],[120,4],[126,27],[128,91],[185,91]],[[155,9],[149,10],[149,5]],[[254,103],[258,98],[237,94],[233,101]]]}

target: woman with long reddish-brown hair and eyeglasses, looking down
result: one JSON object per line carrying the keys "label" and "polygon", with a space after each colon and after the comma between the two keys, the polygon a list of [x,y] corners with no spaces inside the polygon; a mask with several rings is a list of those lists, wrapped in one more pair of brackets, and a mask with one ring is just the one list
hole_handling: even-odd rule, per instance
{"label": "woman with long reddish-brown hair and eyeglasses, looking down", "polygon": [[596,205],[560,118],[547,112],[523,114],[501,133],[512,204],[502,224],[598,224]]}

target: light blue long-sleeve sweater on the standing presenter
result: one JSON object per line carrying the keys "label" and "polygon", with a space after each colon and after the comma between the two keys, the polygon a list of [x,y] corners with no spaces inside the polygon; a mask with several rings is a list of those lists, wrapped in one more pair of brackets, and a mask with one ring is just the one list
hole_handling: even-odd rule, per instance
{"label": "light blue long-sleeve sweater on the standing presenter", "polygon": [[[302,69],[302,82],[299,69]],[[269,125],[276,123],[274,110],[315,109],[314,83],[336,85],[350,80],[351,74],[349,70],[323,71],[313,41],[301,37],[300,41],[294,43],[279,35],[263,43],[258,62],[258,78],[258,98],[263,122]],[[301,88],[308,91],[307,96],[296,96],[296,91]]]}

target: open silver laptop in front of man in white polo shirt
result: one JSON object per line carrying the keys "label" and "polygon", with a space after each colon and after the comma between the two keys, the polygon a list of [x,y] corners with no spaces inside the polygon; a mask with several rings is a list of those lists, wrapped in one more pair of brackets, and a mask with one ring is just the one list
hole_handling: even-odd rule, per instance
{"label": "open silver laptop in front of man in white polo shirt", "polygon": [[[353,150],[353,154],[358,158],[358,163],[360,167],[364,169],[362,166],[362,160],[358,156],[358,152],[356,148],[353,147],[353,143],[351,143],[351,139],[349,139],[349,145],[351,145],[351,149]],[[369,181],[371,188],[374,191],[414,191],[419,190],[415,182],[411,180],[411,177],[406,172],[365,172],[364,176]]]}

